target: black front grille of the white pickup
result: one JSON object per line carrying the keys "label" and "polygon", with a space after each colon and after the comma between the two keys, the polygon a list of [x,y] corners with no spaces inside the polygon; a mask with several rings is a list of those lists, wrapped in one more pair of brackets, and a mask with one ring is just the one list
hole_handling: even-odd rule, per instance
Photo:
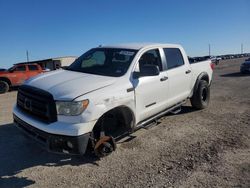
{"label": "black front grille of the white pickup", "polygon": [[46,123],[57,121],[56,104],[47,91],[22,85],[18,89],[17,107]]}

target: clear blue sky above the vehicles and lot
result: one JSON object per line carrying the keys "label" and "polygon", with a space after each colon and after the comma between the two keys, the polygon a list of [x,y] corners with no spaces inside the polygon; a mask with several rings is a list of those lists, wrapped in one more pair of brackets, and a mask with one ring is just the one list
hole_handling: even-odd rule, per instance
{"label": "clear blue sky above the vehicles and lot", "polygon": [[181,44],[189,56],[250,53],[250,0],[0,0],[0,67],[99,45]]}

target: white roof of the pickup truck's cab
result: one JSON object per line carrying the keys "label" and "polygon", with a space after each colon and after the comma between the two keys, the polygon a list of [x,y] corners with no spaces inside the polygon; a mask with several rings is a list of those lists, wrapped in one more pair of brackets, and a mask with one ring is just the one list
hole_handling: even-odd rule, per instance
{"label": "white roof of the pickup truck's cab", "polygon": [[104,45],[100,48],[126,48],[133,50],[140,50],[145,47],[154,47],[154,46],[169,46],[169,47],[179,47],[177,44],[161,44],[161,43],[127,43],[127,44],[116,44],[116,45]]}

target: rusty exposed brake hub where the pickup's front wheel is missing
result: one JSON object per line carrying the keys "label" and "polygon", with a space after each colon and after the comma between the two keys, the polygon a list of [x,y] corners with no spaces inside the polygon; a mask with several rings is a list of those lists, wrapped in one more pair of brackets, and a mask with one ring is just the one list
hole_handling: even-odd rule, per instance
{"label": "rusty exposed brake hub where the pickup's front wheel is missing", "polygon": [[105,157],[116,149],[116,143],[112,136],[102,136],[96,142],[94,152],[97,157]]}

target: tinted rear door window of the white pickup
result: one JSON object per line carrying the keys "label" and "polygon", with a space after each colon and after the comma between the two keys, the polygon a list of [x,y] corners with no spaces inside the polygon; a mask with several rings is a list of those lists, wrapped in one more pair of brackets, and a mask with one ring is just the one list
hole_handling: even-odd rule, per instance
{"label": "tinted rear door window of the white pickup", "polygon": [[178,48],[164,48],[168,69],[184,65],[181,51]]}

